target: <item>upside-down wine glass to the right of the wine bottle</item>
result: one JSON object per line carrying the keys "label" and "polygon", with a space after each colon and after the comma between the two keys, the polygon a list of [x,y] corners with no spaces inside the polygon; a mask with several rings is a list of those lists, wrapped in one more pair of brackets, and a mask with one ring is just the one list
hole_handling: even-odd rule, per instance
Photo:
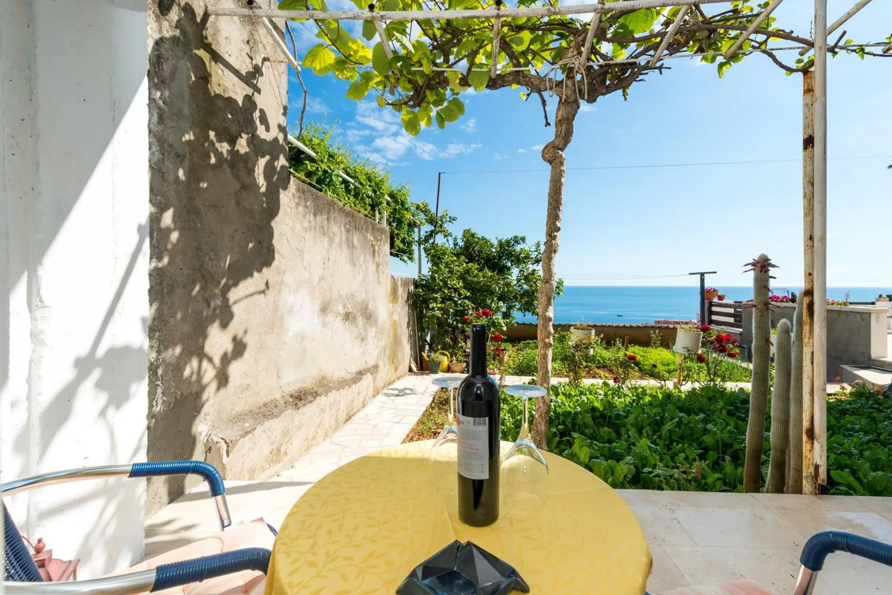
{"label": "upside-down wine glass to the right of the wine bottle", "polygon": [[501,492],[506,512],[535,513],[545,500],[549,464],[530,437],[529,401],[547,391],[533,384],[511,384],[505,392],[524,401],[524,421],[514,445],[501,463]]}

